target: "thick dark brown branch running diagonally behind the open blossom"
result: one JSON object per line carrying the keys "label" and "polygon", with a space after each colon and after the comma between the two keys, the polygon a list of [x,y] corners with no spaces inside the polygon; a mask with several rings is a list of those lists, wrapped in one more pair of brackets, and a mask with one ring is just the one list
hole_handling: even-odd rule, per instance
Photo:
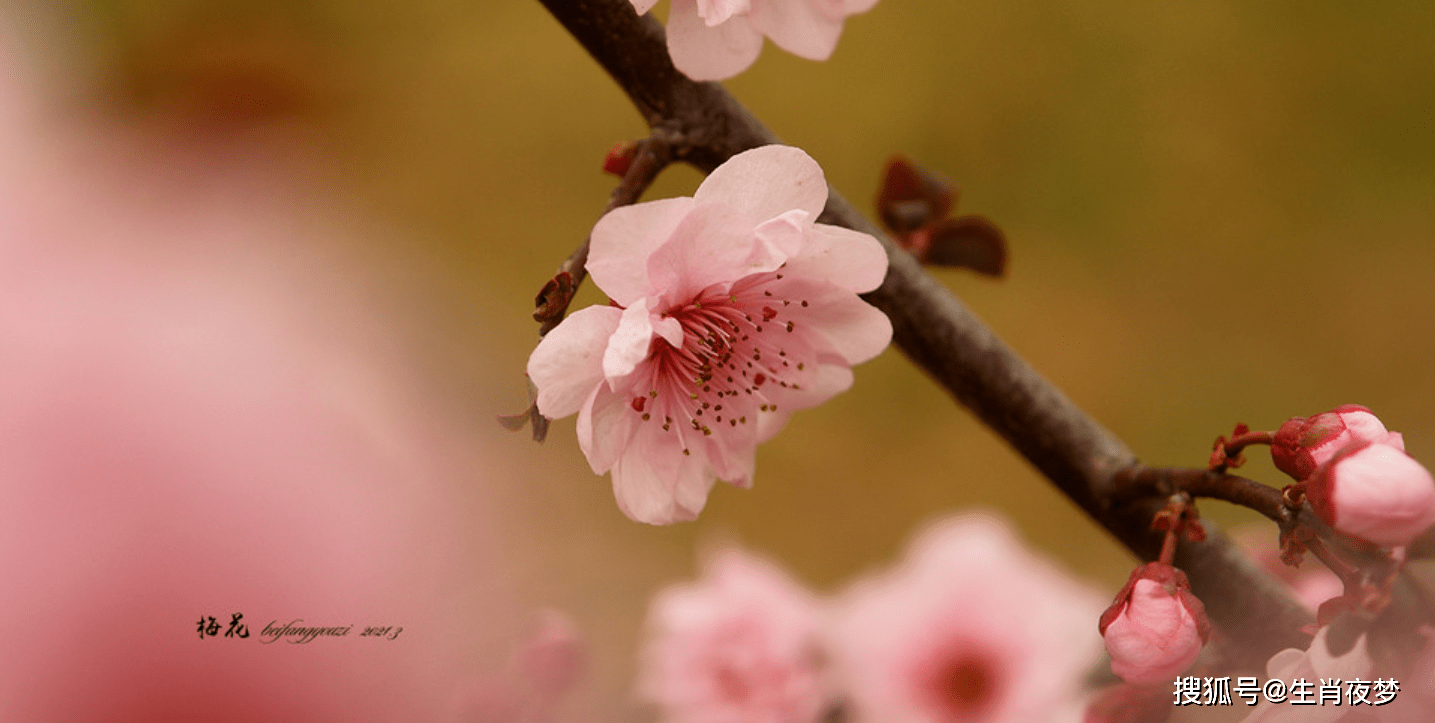
{"label": "thick dark brown branch running diagonally behind the open blossom", "polygon": [[[674,141],[674,159],[712,171],[742,151],[779,142],[722,86],[679,73],[663,29],[650,16],[639,17],[627,0],[541,1],[647,123]],[[837,191],[821,221],[883,241],[887,280],[865,298],[891,318],[893,341],[1131,551],[1155,559],[1162,535],[1149,526],[1165,498],[1112,504],[1116,473],[1138,465],[1126,445],[1042,379]],[[1213,531],[1204,542],[1181,545],[1177,564],[1211,618],[1240,646],[1231,650],[1238,664],[1260,667],[1273,653],[1309,643],[1300,627],[1312,615],[1224,535]]]}

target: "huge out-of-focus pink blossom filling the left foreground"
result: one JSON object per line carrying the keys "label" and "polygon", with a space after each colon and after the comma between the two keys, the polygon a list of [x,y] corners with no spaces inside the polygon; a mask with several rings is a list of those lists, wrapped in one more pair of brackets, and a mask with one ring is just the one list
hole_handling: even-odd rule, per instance
{"label": "huge out-of-focus pink blossom filling the left foreground", "polygon": [[6,720],[435,719],[498,614],[441,592],[504,585],[334,225],[255,135],[62,133],[23,77],[0,44]]}

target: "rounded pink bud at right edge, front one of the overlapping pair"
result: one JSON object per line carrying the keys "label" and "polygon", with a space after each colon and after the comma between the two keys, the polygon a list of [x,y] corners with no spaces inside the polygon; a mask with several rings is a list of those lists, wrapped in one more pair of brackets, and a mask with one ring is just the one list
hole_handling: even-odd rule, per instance
{"label": "rounded pink bud at right edge, front one of the overlapping pair", "polygon": [[1336,531],[1382,547],[1408,545],[1435,525],[1435,478],[1389,443],[1342,449],[1316,471],[1306,496]]}

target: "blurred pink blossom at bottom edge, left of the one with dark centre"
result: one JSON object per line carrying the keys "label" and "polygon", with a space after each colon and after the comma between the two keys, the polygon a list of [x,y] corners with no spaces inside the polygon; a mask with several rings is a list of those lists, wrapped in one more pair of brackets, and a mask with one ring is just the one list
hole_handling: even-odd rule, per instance
{"label": "blurred pink blossom at bottom edge, left of the one with dark centre", "polygon": [[781,570],[736,549],[649,611],[639,693],[672,723],[809,723],[827,701],[817,604]]}

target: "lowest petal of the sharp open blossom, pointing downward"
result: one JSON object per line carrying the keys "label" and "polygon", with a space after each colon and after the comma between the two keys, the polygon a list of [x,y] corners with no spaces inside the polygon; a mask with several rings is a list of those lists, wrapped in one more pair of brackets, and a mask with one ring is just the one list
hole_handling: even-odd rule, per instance
{"label": "lowest petal of the sharp open blossom, pointing downward", "polygon": [[650,525],[696,519],[715,479],[700,452],[683,455],[679,438],[639,429],[613,465],[613,495],[630,519]]}

